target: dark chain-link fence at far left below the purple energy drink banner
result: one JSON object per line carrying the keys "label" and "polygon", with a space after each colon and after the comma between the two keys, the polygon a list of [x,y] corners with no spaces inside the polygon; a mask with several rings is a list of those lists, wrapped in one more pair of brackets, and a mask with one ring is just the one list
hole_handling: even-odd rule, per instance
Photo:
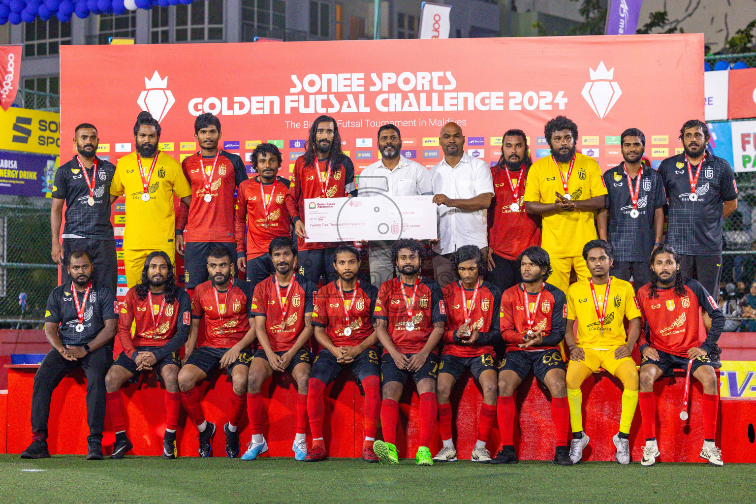
{"label": "dark chain-link fence at far left below the purple energy drink banner", "polygon": [[50,199],[0,197],[0,328],[42,326],[48,294],[57,285],[50,207]]}

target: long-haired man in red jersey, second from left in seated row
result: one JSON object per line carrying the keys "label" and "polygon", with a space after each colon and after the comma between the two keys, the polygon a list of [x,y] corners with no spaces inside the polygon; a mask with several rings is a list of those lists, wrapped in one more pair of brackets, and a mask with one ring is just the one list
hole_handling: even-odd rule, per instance
{"label": "long-haired man in red jersey, second from left in seated row", "polygon": [[176,427],[181,410],[178,354],[187,342],[190,325],[191,301],[187,292],[176,286],[171,259],[166,252],[152,252],[144,260],[141,283],[126,292],[118,319],[123,351],[105,376],[107,412],[116,433],[111,459],[122,459],[133,447],[126,435],[121,386],[137,373],[152,369],[166,385],[163,459],[176,458]]}

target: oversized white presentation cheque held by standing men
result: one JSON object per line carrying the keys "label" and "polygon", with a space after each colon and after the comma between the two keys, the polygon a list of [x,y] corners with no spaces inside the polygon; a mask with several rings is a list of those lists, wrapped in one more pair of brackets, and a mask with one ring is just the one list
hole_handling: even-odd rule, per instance
{"label": "oversized white presentation cheque held by standing men", "polygon": [[305,242],[438,238],[433,196],[305,199]]}

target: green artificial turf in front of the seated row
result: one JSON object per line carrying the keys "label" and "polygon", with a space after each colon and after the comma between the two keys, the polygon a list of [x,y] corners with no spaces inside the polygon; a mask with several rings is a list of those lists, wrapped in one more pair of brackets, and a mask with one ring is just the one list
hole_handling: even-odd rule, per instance
{"label": "green artificial turf in front of the seated row", "polygon": [[[29,471],[42,469],[42,471]],[[87,461],[83,456],[21,460],[0,456],[0,502],[658,502],[756,501],[754,465],[640,463],[622,467],[588,462],[559,467],[468,461],[417,467],[367,464],[360,459],[305,463],[293,459],[127,456]]]}

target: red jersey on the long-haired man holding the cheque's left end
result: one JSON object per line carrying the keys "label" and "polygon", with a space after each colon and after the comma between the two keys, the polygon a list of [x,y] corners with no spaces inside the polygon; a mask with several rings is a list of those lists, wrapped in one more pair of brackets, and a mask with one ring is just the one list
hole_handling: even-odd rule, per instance
{"label": "red jersey on the long-haired man holding the cheque's left end", "polygon": [[[294,173],[291,176],[291,185],[286,199],[292,221],[305,218],[305,199],[344,198],[349,194],[357,196],[355,165],[352,164],[352,159],[349,159],[349,156],[343,156],[338,164],[332,165],[330,179],[326,184],[325,191],[321,184],[326,182],[328,159],[318,159],[317,164],[317,167],[305,165],[304,156],[299,156],[294,163]],[[327,249],[339,245],[339,243],[305,242],[299,237],[297,242],[299,250]]]}

